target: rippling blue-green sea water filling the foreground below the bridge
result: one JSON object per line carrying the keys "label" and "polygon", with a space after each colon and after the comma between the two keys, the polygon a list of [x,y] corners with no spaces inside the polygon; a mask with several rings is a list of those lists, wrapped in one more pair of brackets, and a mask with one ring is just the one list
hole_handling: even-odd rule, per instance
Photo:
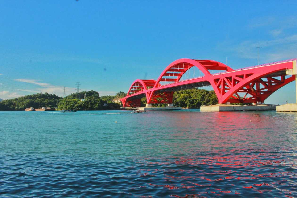
{"label": "rippling blue-green sea water filling the foreground below the bridge", "polygon": [[0,112],[0,197],[297,197],[297,114]]}

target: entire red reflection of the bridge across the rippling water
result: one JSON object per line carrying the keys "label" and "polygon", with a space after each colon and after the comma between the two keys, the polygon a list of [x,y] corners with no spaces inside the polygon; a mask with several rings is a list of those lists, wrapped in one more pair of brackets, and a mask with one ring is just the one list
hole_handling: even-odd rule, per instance
{"label": "entire red reflection of the bridge across the rippling water", "polygon": [[[255,112],[177,112],[166,116],[164,126],[168,127],[162,128],[162,138],[156,144],[168,155],[161,162],[151,162],[150,158],[139,162],[162,175],[162,181],[150,181],[151,186],[173,191],[187,186],[195,191],[172,193],[174,197],[297,194],[290,187],[297,178],[296,158],[292,157],[296,145],[291,143],[296,132],[284,129],[282,121],[287,118]],[[142,170],[139,174],[142,172],[152,173]]]}

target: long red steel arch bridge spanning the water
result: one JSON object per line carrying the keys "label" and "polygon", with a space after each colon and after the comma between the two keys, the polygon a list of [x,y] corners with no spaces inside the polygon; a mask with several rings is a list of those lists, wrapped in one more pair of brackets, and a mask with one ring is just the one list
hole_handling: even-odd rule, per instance
{"label": "long red steel arch bridge spanning the water", "polygon": [[293,69],[296,60],[234,70],[218,61],[182,58],[169,64],[157,80],[135,80],[120,101],[124,107],[140,107],[143,97],[147,104],[171,104],[174,91],[212,86],[220,104],[264,102],[274,91],[295,80],[286,70]]}

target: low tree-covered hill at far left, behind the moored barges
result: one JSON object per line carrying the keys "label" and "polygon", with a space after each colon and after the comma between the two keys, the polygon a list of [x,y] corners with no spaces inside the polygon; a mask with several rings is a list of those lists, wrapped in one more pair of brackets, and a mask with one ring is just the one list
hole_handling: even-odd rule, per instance
{"label": "low tree-covered hill at far left, behind the moored barges", "polygon": [[27,107],[56,107],[62,99],[62,97],[56,96],[55,94],[37,93],[19,98],[3,100],[0,102],[0,110],[13,111],[24,110]]}

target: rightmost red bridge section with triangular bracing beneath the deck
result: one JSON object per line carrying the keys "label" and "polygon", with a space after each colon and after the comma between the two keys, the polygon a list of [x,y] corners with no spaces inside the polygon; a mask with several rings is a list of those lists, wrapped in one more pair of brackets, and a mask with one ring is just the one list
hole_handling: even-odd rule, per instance
{"label": "rightmost red bridge section with triangular bracing beneath the deck", "polygon": [[[286,79],[286,70],[292,68],[293,61],[290,61],[213,75],[216,84],[213,88],[218,93],[219,103],[264,102],[279,88],[295,80],[295,76]],[[246,94],[240,97],[238,93]]]}

